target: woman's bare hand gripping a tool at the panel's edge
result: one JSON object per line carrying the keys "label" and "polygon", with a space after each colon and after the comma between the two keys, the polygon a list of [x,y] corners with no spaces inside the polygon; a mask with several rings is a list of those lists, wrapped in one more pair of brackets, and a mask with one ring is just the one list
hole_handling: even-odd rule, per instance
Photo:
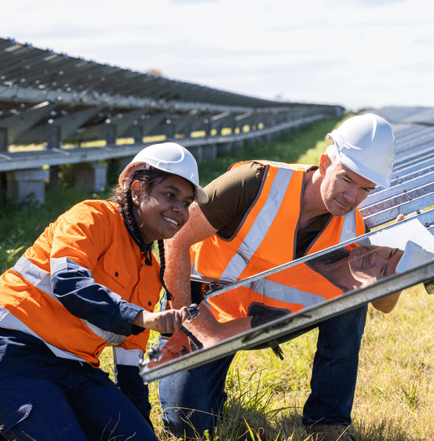
{"label": "woman's bare hand gripping a tool at the panel's edge", "polygon": [[191,318],[187,307],[163,312],[149,312],[144,309],[137,314],[134,325],[152,329],[160,334],[172,334],[180,328],[183,322]]}

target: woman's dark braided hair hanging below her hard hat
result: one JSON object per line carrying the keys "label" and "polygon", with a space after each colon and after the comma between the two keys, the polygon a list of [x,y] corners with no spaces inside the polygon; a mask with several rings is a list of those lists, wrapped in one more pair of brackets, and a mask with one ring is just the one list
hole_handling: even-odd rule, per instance
{"label": "woman's dark braided hair hanging below her hard hat", "polygon": [[[128,227],[130,227],[136,242],[138,242],[141,251],[145,254],[146,265],[152,265],[152,254],[151,247],[152,244],[145,244],[140,233],[136,218],[134,217],[134,202],[132,200],[131,185],[134,181],[141,183],[145,194],[151,192],[152,187],[161,181],[165,181],[170,176],[169,173],[158,170],[155,167],[149,167],[146,170],[136,170],[132,175],[130,180],[130,185],[126,189],[123,189],[120,185],[117,185],[112,190],[109,200],[117,203],[122,210],[123,218]],[[169,289],[167,289],[164,281],[164,271],[165,271],[165,253],[164,253],[164,242],[163,239],[158,239],[158,253],[160,255],[160,280],[163,288],[166,291],[167,299],[172,300],[172,294],[170,294]]]}

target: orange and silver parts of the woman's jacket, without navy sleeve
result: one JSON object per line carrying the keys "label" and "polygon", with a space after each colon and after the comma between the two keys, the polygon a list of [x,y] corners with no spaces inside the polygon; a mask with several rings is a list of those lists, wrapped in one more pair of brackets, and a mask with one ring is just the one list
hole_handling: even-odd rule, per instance
{"label": "orange and silver parts of the woman's jacket, without navy sleeve", "polygon": [[97,367],[101,351],[110,345],[116,347],[117,364],[136,365],[146,351],[149,330],[128,337],[105,331],[71,314],[54,296],[50,265],[68,262],[90,271],[96,283],[123,300],[154,311],[161,291],[156,258],[152,266],[145,264],[116,204],[85,201],[50,224],[3,273],[0,326],[40,338],[59,357]]}

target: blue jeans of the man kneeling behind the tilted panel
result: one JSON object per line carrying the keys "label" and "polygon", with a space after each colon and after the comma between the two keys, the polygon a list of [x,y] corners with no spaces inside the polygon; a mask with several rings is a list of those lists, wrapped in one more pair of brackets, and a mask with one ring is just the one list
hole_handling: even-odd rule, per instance
{"label": "blue jeans of the man kneeling behind the tilted panel", "polygon": [[[360,342],[367,305],[318,325],[311,394],[302,424],[351,424]],[[161,340],[163,345],[167,340]],[[282,341],[282,339],[280,339]],[[174,435],[214,431],[227,398],[225,379],[234,356],[159,380],[163,422]],[[290,381],[290,379],[289,379]]]}

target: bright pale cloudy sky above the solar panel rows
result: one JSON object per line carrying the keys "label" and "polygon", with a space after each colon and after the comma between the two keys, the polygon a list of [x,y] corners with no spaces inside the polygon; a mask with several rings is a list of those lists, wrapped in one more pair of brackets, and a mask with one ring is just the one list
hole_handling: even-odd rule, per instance
{"label": "bright pale cloudy sky above the solar panel rows", "polygon": [[428,0],[14,0],[0,37],[260,98],[434,107]]}

